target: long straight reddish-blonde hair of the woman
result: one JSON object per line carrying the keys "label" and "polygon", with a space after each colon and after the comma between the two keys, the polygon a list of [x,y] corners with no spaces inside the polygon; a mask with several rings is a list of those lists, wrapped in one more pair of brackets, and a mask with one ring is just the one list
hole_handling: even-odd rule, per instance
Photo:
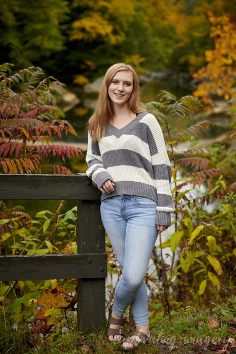
{"label": "long straight reddish-blonde hair of the woman", "polygon": [[104,137],[106,126],[113,118],[114,109],[112,101],[108,95],[108,87],[111,84],[114,75],[118,71],[131,71],[133,75],[134,88],[128,100],[129,111],[133,111],[135,113],[146,111],[140,104],[139,79],[135,69],[131,65],[124,63],[112,65],[105,73],[96,108],[87,123],[87,131],[90,133],[94,143],[96,141],[99,142]]}

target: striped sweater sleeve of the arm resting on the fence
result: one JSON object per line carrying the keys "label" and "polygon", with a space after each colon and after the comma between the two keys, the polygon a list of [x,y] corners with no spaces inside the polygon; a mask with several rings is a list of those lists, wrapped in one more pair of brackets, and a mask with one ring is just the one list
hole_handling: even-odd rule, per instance
{"label": "striped sweater sleeve of the arm resting on the fence", "polygon": [[92,180],[92,184],[100,189],[102,184],[107,180],[112,178],[109,173],[103,168],[102,158],[98,146],[98,142],[93,143],[90,134],[88,133],[88,150],[86,154],[86,162],[88,164],[88,169],[86,175]]}

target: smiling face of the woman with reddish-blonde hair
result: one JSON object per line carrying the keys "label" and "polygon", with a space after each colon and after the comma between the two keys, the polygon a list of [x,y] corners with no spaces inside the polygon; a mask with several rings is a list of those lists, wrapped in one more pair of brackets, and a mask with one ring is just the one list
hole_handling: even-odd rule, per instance
{"label": "smiling face of the woman with reddish-blonde hair", "polygon": [[108,95],[113,104],[124,105],[128,103],[133,89],[134,79],[131,71],[118,71],[108,87]]}

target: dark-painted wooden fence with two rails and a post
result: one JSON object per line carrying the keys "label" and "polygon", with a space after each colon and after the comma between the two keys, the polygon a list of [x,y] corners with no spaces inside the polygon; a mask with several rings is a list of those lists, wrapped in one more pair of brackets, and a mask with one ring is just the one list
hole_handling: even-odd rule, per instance
{"label": "dark-painted wooden fence with two rails and a post", "polygon": [[0,175],[0,199],[77,200],[78,254],[0,256],[0,281],[77,278],[78,327],[105,326],[105,231],[100,195],[85,173]]}

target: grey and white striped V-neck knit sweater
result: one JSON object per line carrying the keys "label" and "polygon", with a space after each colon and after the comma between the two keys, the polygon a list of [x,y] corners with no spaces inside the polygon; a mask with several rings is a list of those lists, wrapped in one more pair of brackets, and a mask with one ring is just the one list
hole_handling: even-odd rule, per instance
{"label": "grey and white striped V-neck knit sweater", "polygon": [[153,114],[142,112],[122,129],[108,123],[99,143],[88,134],[86,162],[86,174],[98,189],[107,179],[114,182],[114,191],[102,193],[101,201],[120,194],[153,199],[158,205],[156,225],[171,225],[171,165]]}

